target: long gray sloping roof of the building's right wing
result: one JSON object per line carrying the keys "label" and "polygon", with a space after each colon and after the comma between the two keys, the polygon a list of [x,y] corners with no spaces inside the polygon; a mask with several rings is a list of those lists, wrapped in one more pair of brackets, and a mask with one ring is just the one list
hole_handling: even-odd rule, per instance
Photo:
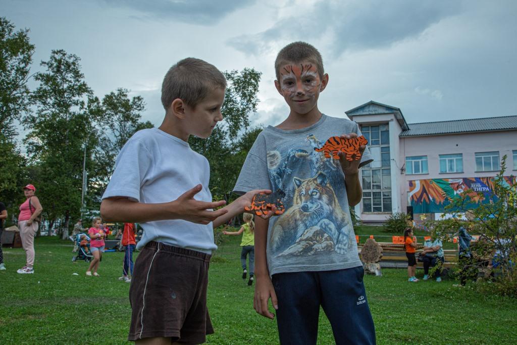
{"label": "long gray sloping roof of the building's right wing", "polygon": [[517,130],[517,116],[469,118],[464,120],[408,124],[399,137],[431,136],[437,134]]}

